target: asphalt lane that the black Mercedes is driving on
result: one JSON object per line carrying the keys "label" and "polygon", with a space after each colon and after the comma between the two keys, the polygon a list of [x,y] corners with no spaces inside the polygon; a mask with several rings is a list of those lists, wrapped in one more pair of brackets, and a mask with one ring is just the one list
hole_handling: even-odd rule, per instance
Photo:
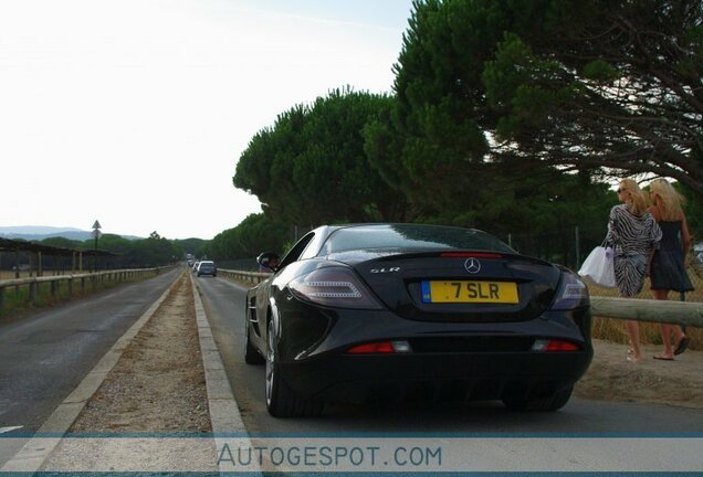
{"label": "asphalt lane that the black Mercedes is driving on", "polygon": [[245,289],[198,278],[213,336],[250,433],[697,433],[703,411],[571,399],[556,413],[513,413],[501,403],[421,407],[335,406],[317,418],[279,420],[263,402],[264,369],[243,361]]}

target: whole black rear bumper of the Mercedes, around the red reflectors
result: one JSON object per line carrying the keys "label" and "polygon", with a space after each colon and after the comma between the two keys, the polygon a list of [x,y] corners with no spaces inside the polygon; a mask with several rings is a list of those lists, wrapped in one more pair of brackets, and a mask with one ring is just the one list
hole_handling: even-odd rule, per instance
{"label": "whole black rear bumper of the Mercedes, around the red reflectors", "polygon": [[[576,383],[592,359],[590,310],[549,311],[531,320],[407,320],[387,310],[322,309],[277,300],[280,375],[302,396],[323,401],[415,395],[495,400],[549,394]],[[577,351],[533,351],[536,340]],[[409,352],[349,354],[364,343],[401,340]]]}

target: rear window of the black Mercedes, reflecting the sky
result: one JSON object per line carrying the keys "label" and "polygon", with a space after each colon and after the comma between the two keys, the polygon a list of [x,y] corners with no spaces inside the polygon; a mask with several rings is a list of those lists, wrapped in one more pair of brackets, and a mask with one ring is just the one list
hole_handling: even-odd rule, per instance
{"label": "rear window of the black Mercedes, reflecting the sky", "polygon": [[344,227],[333,232],[322,254],[350,250],[481,250],[515,253],[513,248],[495,236],[475,229],[460,229],[438,225],[392,224],[360,225]]}

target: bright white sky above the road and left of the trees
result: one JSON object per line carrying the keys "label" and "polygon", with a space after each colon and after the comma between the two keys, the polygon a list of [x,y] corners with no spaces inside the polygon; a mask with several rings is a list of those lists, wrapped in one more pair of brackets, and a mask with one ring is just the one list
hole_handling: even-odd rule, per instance
{"label": "bright white sky above the road and left of the trees", "polygon": [[0,0],[0,226],[212,239],[254,134],[390,93],[412,0]]}

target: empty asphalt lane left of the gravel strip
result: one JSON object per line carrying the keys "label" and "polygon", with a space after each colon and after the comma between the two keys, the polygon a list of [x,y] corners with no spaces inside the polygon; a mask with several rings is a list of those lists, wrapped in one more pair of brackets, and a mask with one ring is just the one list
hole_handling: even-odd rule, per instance
{"label": "empty asphalt lane left of the gravel strip", "polygon": [[35,432],[181,272],[0,322],[0,430]]}

